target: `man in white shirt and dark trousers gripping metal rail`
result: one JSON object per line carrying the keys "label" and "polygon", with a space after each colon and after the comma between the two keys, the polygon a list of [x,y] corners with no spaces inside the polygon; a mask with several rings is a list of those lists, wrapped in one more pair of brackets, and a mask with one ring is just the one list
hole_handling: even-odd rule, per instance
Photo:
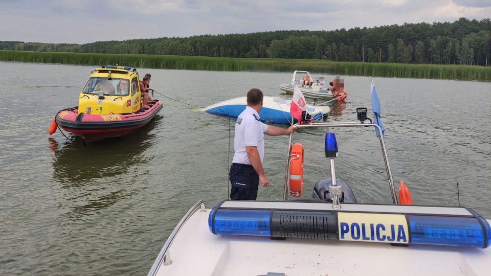
{"label": "man in white shirt and dark trousers gripping metal rail", "polygon": [[256,200],[259,182],[269,187],[270,180],[264,174],[264,134],[277,136],[295,132],[295,126],[286,128],[266,125],[259,121],[264,95],[252,88],[247,93],[247,107],[235,122],[234,157],[229,171],[232,185],[230,199]]}

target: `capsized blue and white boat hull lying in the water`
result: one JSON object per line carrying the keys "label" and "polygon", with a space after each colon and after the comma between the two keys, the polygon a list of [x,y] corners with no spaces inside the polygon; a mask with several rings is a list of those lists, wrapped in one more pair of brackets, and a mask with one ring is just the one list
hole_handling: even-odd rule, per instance
{"label": "capsized blue and white boat hull lying in the water", "polygon": [[[264,96],[263,106],[259,111],[261,121],[273,124],[292,124],[292,116],[290,114],[291,99],[282,99],[278,97]],[[219,103],[212,104],[202,109],[202,111],[219,116],[237,118],[247,106],[247,97],[239,97]],[[306,113],[308,119],[315,121],[326,119],[331,108],[322,105],[307,105]],[[293,119],[297,123],[297,119]]]}

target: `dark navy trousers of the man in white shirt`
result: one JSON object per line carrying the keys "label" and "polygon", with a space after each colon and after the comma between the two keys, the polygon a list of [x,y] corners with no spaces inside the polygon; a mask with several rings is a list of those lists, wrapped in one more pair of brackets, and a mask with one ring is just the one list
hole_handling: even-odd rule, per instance
{"label": "dark navy trousers of the man in white shirt", "polygon": [[259,187],[259,175],[251,165],[233,163],[229,171],[232,184],[230,199],[256,200]]}

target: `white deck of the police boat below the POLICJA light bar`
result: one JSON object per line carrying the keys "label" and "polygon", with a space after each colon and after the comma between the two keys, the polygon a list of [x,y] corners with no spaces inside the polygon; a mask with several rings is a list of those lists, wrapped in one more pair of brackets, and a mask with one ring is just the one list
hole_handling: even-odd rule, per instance
{"label": "white deck of the police boat below the POLICJA light bar", "polygon": [[[206,212],[183,225],[157,275],[490,275],[491,248],[213,235]],[[491,221],[488,220],[491,223]]]}

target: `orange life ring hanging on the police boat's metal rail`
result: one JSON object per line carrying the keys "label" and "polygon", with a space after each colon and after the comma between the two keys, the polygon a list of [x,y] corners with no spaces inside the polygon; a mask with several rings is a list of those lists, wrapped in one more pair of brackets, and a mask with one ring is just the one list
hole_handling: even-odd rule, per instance
{"label": "orange life ring hanging on the police boat's metal rail", "polygon": [[293,144],[289,158],[291,161],[288,173],[288,190],[291,196],[300,197],[303,186],[303,145]]}

